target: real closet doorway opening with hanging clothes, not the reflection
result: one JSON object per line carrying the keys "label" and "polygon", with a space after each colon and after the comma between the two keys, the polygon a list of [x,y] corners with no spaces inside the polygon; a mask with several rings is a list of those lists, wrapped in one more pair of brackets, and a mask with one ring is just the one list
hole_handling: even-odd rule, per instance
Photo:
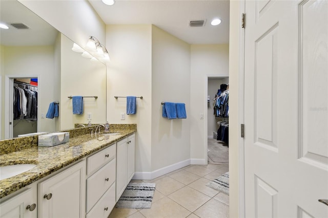
{"label": "real closet doorway opening with hanging clothes, not the reflection", "polygon": [[229,164],[229,77],[208,76],[208,163]]}

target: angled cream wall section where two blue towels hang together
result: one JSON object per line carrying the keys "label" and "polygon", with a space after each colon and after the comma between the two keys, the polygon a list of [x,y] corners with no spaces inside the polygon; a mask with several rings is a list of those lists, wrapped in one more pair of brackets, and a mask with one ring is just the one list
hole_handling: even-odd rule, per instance
{"label": "angled cream wall section where two blue towels hang together", "polygon": [[[190,45],[152,27],[152,171],[190,159]],[[162,117],[162,101],[186,104],[187,119]]]}

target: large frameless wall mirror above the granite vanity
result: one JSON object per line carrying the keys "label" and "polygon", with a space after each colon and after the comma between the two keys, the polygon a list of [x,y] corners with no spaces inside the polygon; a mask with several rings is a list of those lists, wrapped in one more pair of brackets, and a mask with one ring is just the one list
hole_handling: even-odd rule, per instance
{"label": "large frameless wall mirror above the granite vanity", "polygon": [[[72,51],[73,41],[19,2],[1,0],[0,9],[0,22],[9,27],[0,29],[0,139],[70,129],[77,123],[86,124],[88,121],[104,123],[105,64],[90,61],[81,53]],[[31,78],[34,83],[26,84]],[[36,94],[36,119],[14,116],[16,86]],[[28,92],[25,91],[26,96]],[[83,114],[73,114],[69,96],[84,96]],[[46,117],[51,102],[59,103],[59,116],[53,119]]]}

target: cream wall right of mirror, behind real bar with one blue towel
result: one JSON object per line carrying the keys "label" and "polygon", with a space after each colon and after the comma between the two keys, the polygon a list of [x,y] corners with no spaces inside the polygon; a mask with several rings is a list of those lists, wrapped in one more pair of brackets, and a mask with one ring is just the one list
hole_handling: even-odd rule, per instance
{"label": "cream wall right of mirror, behind real bar with one blue towel", "polygon": [[[151,171],[152,118],[152,26],[108,25],[106,48],[111,62],[107,67],[107,120],[110,123],[136,123],[136,172]],[[137,98],[135,115],[126,113],[126,98]]]}

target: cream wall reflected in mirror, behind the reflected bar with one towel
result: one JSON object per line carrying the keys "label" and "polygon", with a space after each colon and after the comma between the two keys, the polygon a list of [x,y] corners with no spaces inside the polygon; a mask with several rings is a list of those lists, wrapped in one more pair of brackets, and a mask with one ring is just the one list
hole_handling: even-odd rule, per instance
{"label": "cream wall reflected in mirror, behind the reflected bar with one towel", "polygon": [[[101,62],[73,52],[73,42],[61,34],[60,59],[60,129],[74,128],[75,123],[88,123],[87,114],[92,114],[92,123],[106,122],[106,66]],[[83,114],[73,114],[72,99],[68,96],[98,96],[83,98]],[[58,99],[57,99],[58,100]]]}

